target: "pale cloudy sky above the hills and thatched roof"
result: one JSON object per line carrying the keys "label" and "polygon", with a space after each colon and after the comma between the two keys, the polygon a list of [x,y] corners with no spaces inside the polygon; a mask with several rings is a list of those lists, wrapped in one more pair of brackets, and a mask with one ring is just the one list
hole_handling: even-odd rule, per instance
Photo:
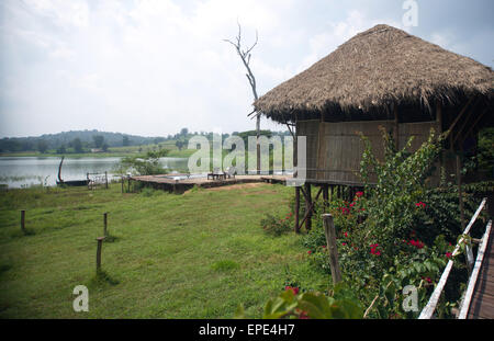
{"label": "pale cloudy sky above the hills and thatched roof", "polygon": [[[403,18],[415,5],[414,26]],[[224,42],[237,22],[246,47],[258,32],[262,95],[379,23],[493,67],[493,14],[492,0],[1,0],[0,138],[255,129],[246,70]]]}

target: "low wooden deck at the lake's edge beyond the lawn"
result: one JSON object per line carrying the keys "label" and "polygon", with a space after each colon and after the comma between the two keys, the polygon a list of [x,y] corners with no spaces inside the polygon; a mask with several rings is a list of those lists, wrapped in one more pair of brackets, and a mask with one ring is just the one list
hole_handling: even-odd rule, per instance
{"label": "low wooden deck at the lake's edge beyond the lawn", "polygon": [[155,189],[160,189],[173,193],[183,193],[193,186],[199,186],[203,189],[225,186],[239,183],[254,183],[254,182],[267,182],[267,183],[287,183],[289,175],[236,175],[235,178],[225,180],[207,180],[204,175],[203,178],[188,178],[175,180],[173,177],[184,178],[186,174],[164,174],[164,175],[138,175],[131,177],[128,181],[138,181]]}

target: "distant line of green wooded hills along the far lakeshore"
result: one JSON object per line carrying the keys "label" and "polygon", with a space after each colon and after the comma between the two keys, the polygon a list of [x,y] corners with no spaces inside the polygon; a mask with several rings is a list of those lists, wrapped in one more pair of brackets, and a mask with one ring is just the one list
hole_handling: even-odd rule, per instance
{"label": "distant line of green wooded hills along the far lakeshore", "polygon": [[[271,132],[262,130],[261,135],[289,135],[289,132]],[[175,135],[166,137],[144,137],[137,135],[127,135],[122,133],[108,133],[99,130],[75,130],[64,132],[58,134],[45,134],[36,137],[11,137],[0,139],[0,152],[21,152],[21,151],[40,151],[70,154],[70,152],[88,152],[91,149],[99,149],[106,151],[110,147],[128,147],[128,146],[146,146],[158,145],[165,141],[173,141],[173,144],[182,149],[187,147],[187,141],[193,135],[203,135],[212,138],[213,133],[207,132],[189,132],[188,128],[182,128]],[[243,138],[247,136],[255,136],[256,132],[234,132],[232,135],[238,135]],[[229,134],[223,134],[223,137],[228,137]]]}

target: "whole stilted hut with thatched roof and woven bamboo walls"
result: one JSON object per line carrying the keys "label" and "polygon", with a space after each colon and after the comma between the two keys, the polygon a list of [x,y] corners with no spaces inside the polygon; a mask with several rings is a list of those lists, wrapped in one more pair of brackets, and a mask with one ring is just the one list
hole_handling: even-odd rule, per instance
{"label": "whole stilted hut with thatched roof and woven bamboo walls", "polygon": [[[454,172],[454,151],[475,149],[479,127],[493,126],[494,72],[471,58],[408,33],[377,25],[360,33],[307,70],[254,103],[258,113],[296,126],[306,137],[305,190],[295,187],[295,230],[311,228],[311,184],[327,198],[328,186],[350,198],[362,185],[358,175],[363,133],[382,158],[379,126],[392,132],[396,147],[414,136],[412,149],[430,128],[449,130],[441,163]],[[379,148],[381,147],[381,148]],[[299,164],[297,170],[301,170]],[[296,174],[295,174],[296,178]],[[431,183],[437,183],[438,172]],[[299,224],[300,191],[305,217]]]}

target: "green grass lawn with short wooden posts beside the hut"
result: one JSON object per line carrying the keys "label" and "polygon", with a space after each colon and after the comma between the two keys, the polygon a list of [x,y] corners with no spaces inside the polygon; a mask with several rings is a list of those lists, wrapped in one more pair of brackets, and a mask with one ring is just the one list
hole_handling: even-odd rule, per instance
{"label": "green grass lawn with short wooden posts beside the hut", "polygon": [[[289,212],[292,191],[0,192],[0,318],[232,318],[239,304],[260,317],[289,277],[324,289],[329,279],[308,264],[300,236],[259,226],[266,213]],[[19,209],[33,235],[21,232]],[[97,279],[104,212],[116,239],[103,243],[108,277]],[[79,284],[89,288],[89,312],[72,309]]]}

